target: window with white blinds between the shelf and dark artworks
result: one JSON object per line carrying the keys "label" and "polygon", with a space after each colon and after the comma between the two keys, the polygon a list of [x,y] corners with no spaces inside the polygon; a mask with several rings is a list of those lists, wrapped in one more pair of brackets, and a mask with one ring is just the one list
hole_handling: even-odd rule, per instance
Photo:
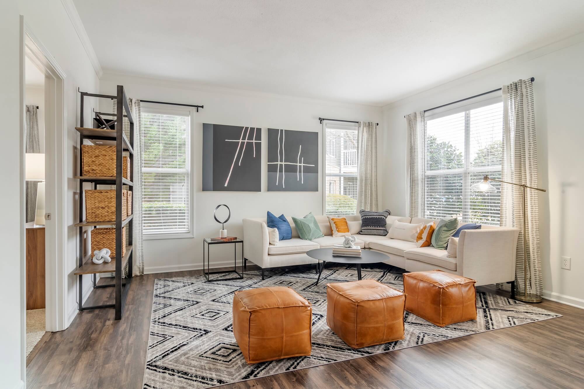
{"label": "window with white blinds between the shelf and dark artworks", "polygon": [[142,107],[144,235],[190,234],[190,116]]}

